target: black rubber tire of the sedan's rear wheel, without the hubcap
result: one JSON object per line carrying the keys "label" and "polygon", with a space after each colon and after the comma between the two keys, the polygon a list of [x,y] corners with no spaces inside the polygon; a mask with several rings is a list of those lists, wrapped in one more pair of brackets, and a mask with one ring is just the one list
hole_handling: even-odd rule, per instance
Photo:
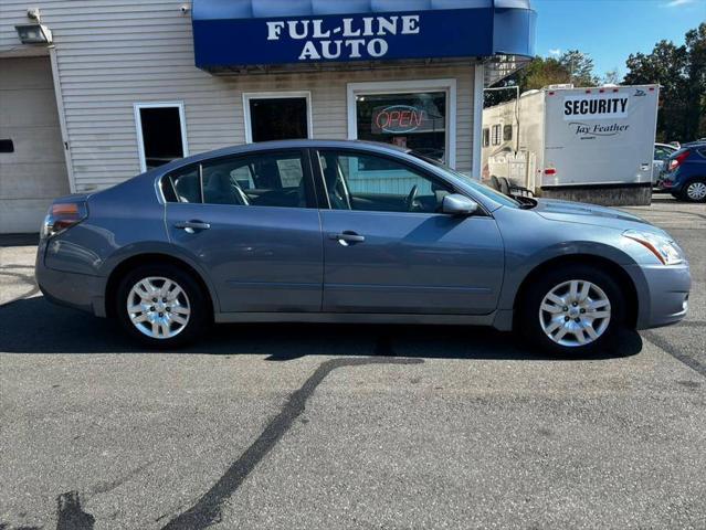
{"label": "black rubber tire of the sedan's rear wheel, without the hubcap", "polygon": [[[173,337],[152,338],[140,331],[130,320],[127,309],[128,296],[133,287],[144,278],[160,277],[176,283],[186,295],[190,315],[185,326]],[[183,299],[183,298],[182,298]],[[211,307],[199,283],[183,269],[165,264],[140,265],[128,272],[119,282],[115,297],[115,312],[123,330],[133,339],[157,349],[178,348],[193,341],[211,321]],[[168,309],[171,309],[168,307]]]}

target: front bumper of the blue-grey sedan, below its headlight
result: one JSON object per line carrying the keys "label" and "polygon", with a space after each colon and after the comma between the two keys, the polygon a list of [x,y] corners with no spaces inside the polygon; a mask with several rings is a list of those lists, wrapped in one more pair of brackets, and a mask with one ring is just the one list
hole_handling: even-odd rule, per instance
{"label": "front bumper of the blue-grey sedan, below its headlight", "polygon": [[682,320],[688,310],[692,276],[688,264],[634,265],[640,310],[637,329],[658,328]]}

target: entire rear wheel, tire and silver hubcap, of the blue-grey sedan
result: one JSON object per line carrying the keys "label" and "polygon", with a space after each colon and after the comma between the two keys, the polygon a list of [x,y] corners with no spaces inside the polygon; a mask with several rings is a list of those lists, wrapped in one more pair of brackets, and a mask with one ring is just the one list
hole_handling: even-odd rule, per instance
{"label": "entire rear wheel, tire and silver hubcap, of the blue-grey sedan", "polygon": [[145,265],[118,286],[118,321],[133,338],[156,348],[193,340],[208,321],[208,305],[199,284],[180,268]]}

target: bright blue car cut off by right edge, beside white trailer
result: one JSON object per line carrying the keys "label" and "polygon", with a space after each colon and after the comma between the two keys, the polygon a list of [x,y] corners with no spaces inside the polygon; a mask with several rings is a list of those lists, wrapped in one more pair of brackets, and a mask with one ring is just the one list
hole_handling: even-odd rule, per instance
{"label": "bright blue car cut off by right edge, beside white trailer", "polygon": [[672,155],[661,188],[683,201],[706,202],[706,142],[684,145]]}

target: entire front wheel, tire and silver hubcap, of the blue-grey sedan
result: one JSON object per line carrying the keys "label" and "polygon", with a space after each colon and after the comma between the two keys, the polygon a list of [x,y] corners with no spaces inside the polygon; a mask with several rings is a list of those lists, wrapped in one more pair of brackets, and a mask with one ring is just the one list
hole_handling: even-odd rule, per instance
{"label": "entire front wheel, tire and silver hubcap, of the blue-grey sedan", "polygon": [[615,346],[624,311],[624,296],[610,275],[565,266],[529,286],[520,307],[520,330],[544,351],[594,352]]}

